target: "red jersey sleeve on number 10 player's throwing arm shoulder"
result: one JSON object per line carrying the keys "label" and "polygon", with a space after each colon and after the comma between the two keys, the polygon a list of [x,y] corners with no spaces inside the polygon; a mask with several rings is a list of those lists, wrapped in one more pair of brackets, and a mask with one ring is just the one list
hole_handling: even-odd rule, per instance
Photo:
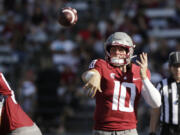
{"label": "red jersey sleeve on number 10 player's throwing arm shoulder", "polygon": [[93,60],[89,65],[89,69],[96,69],[102,75],[102,61],[100,59]]}

